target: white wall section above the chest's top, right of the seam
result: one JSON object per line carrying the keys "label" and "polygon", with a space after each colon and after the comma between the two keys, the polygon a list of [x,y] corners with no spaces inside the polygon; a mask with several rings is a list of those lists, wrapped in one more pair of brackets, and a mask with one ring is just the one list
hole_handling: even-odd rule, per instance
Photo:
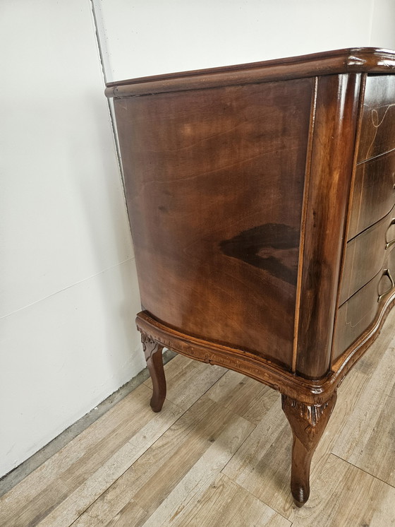
{"label": "white wall section above the chest's top, right of the seam", "polygon": [[94,4],[108,81],[343,47],[395,48],[394,0]]}

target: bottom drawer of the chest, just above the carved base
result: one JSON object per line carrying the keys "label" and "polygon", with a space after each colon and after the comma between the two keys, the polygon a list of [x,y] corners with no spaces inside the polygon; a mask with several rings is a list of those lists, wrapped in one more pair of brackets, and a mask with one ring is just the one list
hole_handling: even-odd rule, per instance
{"label": "bottom drawer of the chest, just above the carved base", "polygon": [[334,338],[334,360],[372,324],[382,302],[389,292],[394,292],[394,276],[395,250],[392,250],[384,268],[339,307]]}

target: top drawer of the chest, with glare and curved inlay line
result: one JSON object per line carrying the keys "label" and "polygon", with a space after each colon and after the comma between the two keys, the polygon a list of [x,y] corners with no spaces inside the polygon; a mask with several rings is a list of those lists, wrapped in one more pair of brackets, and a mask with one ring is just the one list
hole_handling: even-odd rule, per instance
{"label": "top drawer of the chest, with glare and curved inlay line", "polygon": [[395,75],[367,76],[358,162],[395,148]]}

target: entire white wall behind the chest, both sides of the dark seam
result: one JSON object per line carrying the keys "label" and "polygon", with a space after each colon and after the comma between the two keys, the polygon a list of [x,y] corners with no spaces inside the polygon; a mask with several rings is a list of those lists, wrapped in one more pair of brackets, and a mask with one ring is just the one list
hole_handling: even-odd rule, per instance
{"label": "entire white wall behind the chest, both sides of the dark seam", "polygon": [[[95,0],[107,80],[395,48],[393,0]],[[144,367],[89,0],[0,3],[0,475]]]}

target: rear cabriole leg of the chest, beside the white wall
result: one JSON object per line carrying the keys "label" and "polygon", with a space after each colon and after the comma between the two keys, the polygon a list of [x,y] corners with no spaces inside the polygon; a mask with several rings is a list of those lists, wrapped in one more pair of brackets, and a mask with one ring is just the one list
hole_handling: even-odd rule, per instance
{"label": "rear cabriole leg of the chest, beside the white wall", "polygon": [[142,349],[144,350],[145,360],[147,361],[148,371],[152,379],[152,389],[154,393],[150,405],[154,412],[160,412],[166,397],[166,379],[163,369],[163,346],[154,341],[149,335],[141,333]]}

